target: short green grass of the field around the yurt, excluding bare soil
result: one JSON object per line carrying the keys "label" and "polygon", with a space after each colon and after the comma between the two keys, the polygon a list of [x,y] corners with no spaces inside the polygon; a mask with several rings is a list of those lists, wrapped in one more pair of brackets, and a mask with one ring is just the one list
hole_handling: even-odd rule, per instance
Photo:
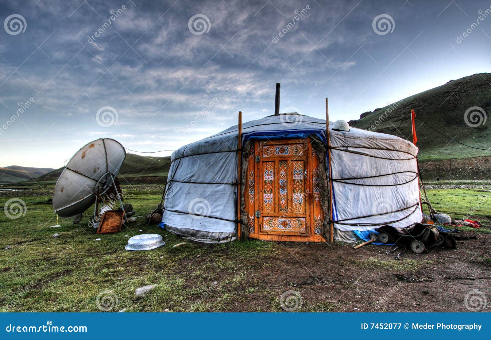
{"label": "short green grass of the field around the yurt, excluding bare soil", "polygon": [[[125,201],[133,204],[135,216],[151,211],[162,195],[160,188],[151,186],[144,193],[131,188],[126,191]],[[491,205],[484,194],[487,193],[479,189],[429,190],[430,199],[439,211],[456,217],[479,216],[489,225]],[[283,257],[281,249],[286,248],[279,243],[186,242],[172,248],[186,240],[157,226],[145,225],[144,217],[138,217],[120,233],[110,235],[96,235],[87,226],[87,215],[78,225],[60,219],[61,228],[50,228],[56,224],[56,216],[52,206],[46,204],[49,197],[45,191],[39,196],[34,193],[22,197],[27,209],[20,218],[9,219],[3,212],[0,215],[0,308],[3,311],[282,311],[279,288],[266,280],[255,279],[256,268],[268,271],[273,256]],[[9,199],[0,197],[0,206]],[[487,228],[471,231],[490,233]],[[53,238],[55,233],[59,236]],[[142,233],[161,234],[166,244],[147,252],[125,251],[128,237]],[[335,252],[339,247],[351,249],[340,244],[315,247],[322,252]],[[378,249],[365,248],[364,253],[355,256]],[[360,269],[379,266],[381,270],[391,271],[435,263],[417,257],[394,262],[391,257],[381,258],[379,253],[378,250],[369,253],[368,258],[356,259],[353,265],[359,265]],[[489,262],[489,256],[483,256],[483,261]],[[301,285],[294,279],[289,282],[291,288]],[[135,288],[150,284],[158,286],[143,297],[135,296]],[[251,296],[258,297],[257,303],[249,303]],[[302,312],[340,310],[339,303],[309,302],[306,295]]]}

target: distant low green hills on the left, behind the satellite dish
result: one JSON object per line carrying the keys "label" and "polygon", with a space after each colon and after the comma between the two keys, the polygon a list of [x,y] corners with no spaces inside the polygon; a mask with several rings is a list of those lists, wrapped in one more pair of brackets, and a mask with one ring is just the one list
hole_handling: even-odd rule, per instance
{"label": "distant low green hills on the left, behind the satellite dish", "polygon": [[[42,175],[29,175],[26,172],[9,169],[14,167],[0,168],[0,183],[16,185],[53,185],[58,180],[64,168],[44,169]],[[21,167],[19,167],[21,168]],[[164,184],[167,182],[167,174],[170,168],[170,157],[145,157],[127,154],[119,171],[118,179],[121,184]],[[3,169],[5,171],[3,171]],[[42,171],[39,168],[24,168],[31,171]],[[3,175],[2,175],[3,173]],[[13,182],[13,179],[16,179]]]}

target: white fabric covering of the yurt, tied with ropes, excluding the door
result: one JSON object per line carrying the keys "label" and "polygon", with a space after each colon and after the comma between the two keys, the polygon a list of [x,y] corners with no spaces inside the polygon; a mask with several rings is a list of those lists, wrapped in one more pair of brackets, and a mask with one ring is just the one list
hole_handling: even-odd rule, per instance
{"label": "white fabric covering of the yurt, tied with ropes, excluding the door", "polygon": [[[420,222],[418,148],[394,135],[356,128],[333,131],[329,124],[334,234]],[[247,122],[242,133],[242,145],[308,137],[326,143],[326,121],[286,113]],[[172,154],[163,228],[202,242],[236,238],[237,139],[233,126]]]}

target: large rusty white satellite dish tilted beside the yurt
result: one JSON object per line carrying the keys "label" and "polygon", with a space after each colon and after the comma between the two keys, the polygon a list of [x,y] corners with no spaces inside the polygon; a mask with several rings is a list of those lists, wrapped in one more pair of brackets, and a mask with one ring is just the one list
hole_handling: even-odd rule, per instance
{"label": "large rusty white satellite dish tilted beside the yurt", "polygon": [[114,139],[100,138],[82,147],[63,169],[53,193],[58,216],[75,217],[88,209],[96,193],[106,192],[126,157],[124,147]]}

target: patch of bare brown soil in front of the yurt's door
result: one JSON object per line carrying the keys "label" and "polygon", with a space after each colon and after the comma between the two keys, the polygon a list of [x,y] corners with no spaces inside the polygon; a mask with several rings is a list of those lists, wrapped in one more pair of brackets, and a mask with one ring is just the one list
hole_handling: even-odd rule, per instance
{"label": "patch of bare brown soil in front of the yurt's door", "polygon": [[294,290],[303,302],[296,312],[469,312],[465,296],[478,289],[488,300],[479,311],[490,312],[490,241],[490,234],[477,234],[457,249],[408,249],[402,260],[394,259],[398,251],[384,254],[389,246],[278,242],[273,256],[227,273],[247,279],[226,311],[282,311],[281,294]]}

